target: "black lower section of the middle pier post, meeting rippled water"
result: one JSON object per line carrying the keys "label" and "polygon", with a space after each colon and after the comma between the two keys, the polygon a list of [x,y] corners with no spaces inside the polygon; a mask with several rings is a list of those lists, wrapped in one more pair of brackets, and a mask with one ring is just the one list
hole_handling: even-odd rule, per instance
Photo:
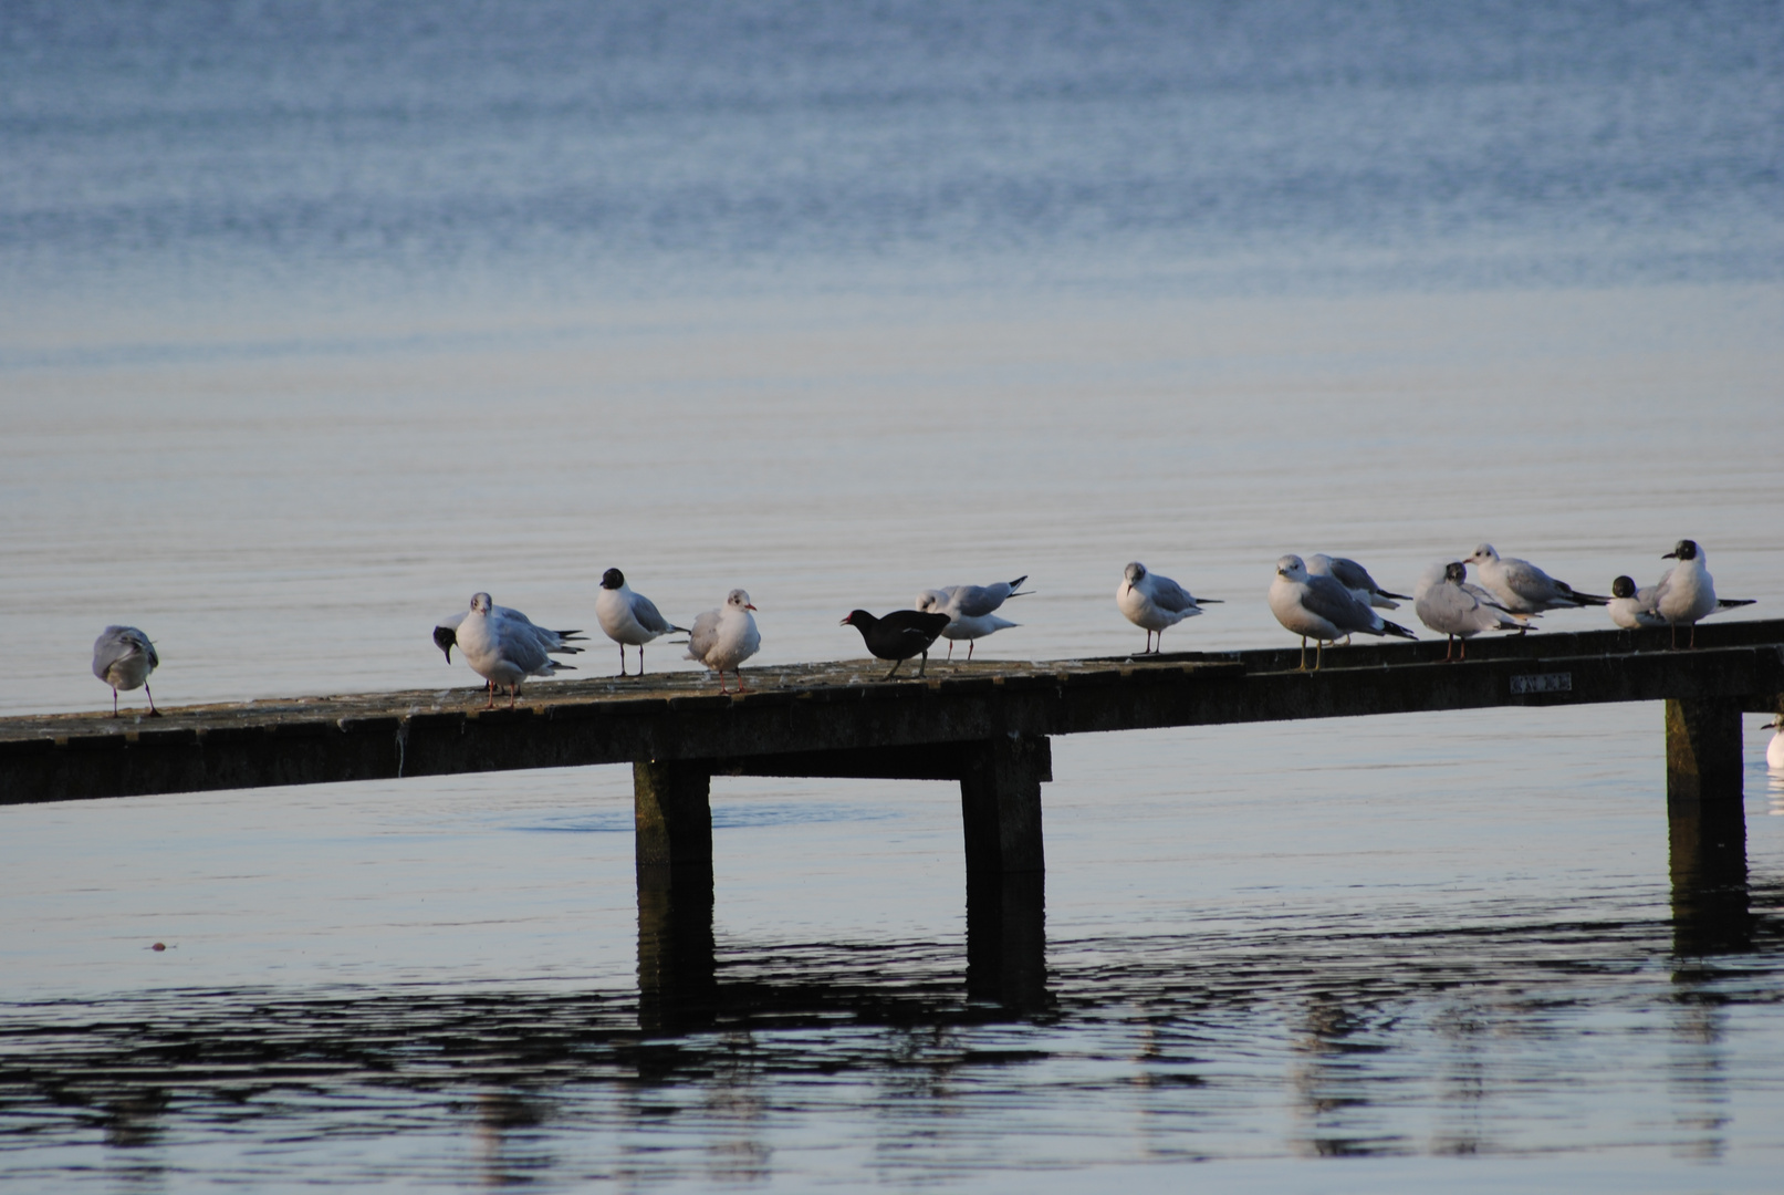
{"label": "black lower section of the middle pier post, meeting rippled water", "polygon": [[1047,1004],[1045,872],[967,872],[967,997],[1013,1013]]}

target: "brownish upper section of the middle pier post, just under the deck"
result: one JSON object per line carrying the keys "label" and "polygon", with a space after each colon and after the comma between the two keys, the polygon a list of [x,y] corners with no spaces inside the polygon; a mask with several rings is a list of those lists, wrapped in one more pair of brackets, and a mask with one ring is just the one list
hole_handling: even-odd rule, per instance
{"label": "brownish upper section of the middle pier post, just under the deck", "polygon": [[1045,870],[1040,785],[1049,779],[1045,737],[999,735],[972,746],[960,778],[967,876]]}

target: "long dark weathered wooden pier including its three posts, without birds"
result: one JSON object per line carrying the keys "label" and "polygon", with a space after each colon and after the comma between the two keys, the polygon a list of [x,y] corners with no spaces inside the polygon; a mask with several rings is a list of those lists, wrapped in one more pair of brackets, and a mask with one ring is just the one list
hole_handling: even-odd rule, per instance
{"label": "long dark weathered wooden pier including its three posts, without birds", "polygon": [[[0,804],[630,763],[640,1017],[710,1017],[714,776],[860,776],[960,783],[967,988],[1008,1008],[1044,992],[1042,783],[1051,738],[1088,731],[1318,717],[1664,701],[1675,938],[1739,949],[1747,915],[1741,715],[1784,710],[1784,621],[1666,631],[1538,631],[1358,644],[1297,671],[1299,649],[1135,660],[931,663],[881,681],[872,660],[747,669],[749,692],[703,674],[541,681],[517,710],[476,688],[0,719]],[[1656,728],[1659,729],[1659,728]]]}

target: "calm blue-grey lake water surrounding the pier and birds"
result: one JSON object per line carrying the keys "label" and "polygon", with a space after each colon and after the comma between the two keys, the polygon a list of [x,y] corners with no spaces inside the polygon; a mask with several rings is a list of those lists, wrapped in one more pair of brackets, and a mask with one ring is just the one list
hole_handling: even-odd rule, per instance
{"label": "calm blue-grey lake water surrounding the pier and birds", "polygon": [[[0,713],[107,622],[166,705],[469,699],[437,617],[610,565],[762,663],[1022,573],[979,656],[1136,651],[1135,558],[1281,644],[1281,553],[1481,540],[1779,617],[1780,16],[9,4]],[[1761,721],[1738,876],[1657,706],[1056,740],[1004,988],[954,787],[719,779],[694,1011],[624,769],[0,808],[0,1186],[1775,1190]]]}

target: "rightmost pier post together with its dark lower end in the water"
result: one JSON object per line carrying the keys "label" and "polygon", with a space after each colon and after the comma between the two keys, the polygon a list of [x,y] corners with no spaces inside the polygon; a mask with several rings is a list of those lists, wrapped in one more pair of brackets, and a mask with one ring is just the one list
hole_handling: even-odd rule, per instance
{"label": "rightmost pier post together with its dark lower end in the water", "polygon": [[1752,949],[1741,767],[1739,701],[1666,703],[1675,954]]}

